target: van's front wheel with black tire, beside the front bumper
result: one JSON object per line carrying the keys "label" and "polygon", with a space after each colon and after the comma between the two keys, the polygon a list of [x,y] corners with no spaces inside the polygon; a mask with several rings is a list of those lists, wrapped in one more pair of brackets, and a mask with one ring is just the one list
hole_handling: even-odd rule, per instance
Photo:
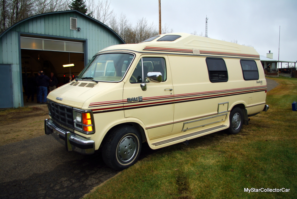
{"label": "van's front wheel with black tire, beside the front bumper", "polygon": [[109,167],[115,170],[123,170],[135,164],[141,146],[141,135],[135,127],[118,126],[105,138],[102,146],[102,157]]}

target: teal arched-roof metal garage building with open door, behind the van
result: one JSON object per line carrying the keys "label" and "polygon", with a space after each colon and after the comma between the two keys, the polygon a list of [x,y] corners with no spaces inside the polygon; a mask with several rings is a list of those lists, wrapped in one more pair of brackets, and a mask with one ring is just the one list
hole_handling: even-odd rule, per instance
{"label": "teal arched-roof metal garage building with open door, behind the van", "polygon": [[[78,75],[92,56],[108,46],[125,44],[103,23],[76,10],[24,19],[0,35],[0,108],[24,106],[27,76],[54,73],[60,84]],[[73,63],[75,66],[63,67]]]}

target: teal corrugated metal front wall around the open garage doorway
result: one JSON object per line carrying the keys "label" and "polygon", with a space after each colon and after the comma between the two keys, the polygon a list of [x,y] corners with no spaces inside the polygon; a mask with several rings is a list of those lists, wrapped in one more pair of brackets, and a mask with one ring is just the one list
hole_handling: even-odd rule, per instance
{"label": "teal corrugated metal front wall around the open garage doorway", "polygon": [[[70,17],[77,18],[80,31],[70,30]],[[39,15],[15,25],[0,38],[0,64],[12,65],[14,107],[22,106],[19,32],[87,39],[85,52],[87,52],[88,60],[92,59],[92,56],[101,49],[123,43],[109,29],[76,11]]]}

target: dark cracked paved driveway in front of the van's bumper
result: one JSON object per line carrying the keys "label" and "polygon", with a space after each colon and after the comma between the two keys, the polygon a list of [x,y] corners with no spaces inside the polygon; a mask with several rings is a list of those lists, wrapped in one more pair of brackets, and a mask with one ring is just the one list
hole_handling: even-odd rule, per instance
{"label": "dark cracked paved driveway in front of the van's bumper", "polygon": [[0,198],[81,198],[118,171],[101,154],[66,152],[52,136],[0,147]]}

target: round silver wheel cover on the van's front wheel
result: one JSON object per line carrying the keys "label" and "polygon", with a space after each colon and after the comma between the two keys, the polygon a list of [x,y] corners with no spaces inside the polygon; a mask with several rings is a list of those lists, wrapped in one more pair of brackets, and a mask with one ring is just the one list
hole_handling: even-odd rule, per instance
{"label": "round silver wheel cover on the van's front wheel", "polygon": [[118,160],[128,162],[134,157],[137,150],[136,140],[132,136],[125,136],[118,144]]}

